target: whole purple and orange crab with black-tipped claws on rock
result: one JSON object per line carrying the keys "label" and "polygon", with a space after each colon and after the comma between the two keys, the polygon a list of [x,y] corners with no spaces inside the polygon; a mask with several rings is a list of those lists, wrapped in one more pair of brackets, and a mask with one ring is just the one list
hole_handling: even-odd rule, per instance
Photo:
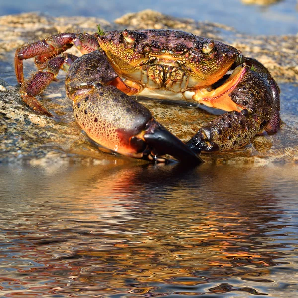
{"label": "whole purple and orange crab with black-tipped claws on rock", "polygon": [[[72,45],[85,55],[58,56]],[[24,81],[22,60],[32,57],[38,71]],[[61,33],[17,49],[15,68],[23,101],[47,115],[35,96],[59,69],[68,71],[66,92],[79,125],[96,143],[131,157],[200,161],[195,152],[237,149],[280,125],[279,88],[260,62],[182,31]],[[137,94],[195,101],[227,113],[185,145],[129,96]]]}

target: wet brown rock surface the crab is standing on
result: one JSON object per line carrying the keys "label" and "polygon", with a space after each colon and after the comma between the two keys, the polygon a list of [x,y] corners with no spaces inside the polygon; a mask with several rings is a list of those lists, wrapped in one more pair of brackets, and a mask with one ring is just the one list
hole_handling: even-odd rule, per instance
{"label": "wet brown rock surface the crab is standing on", "polygon": [[[74,120],[72,102],[65,95],[64,76],[58,75],[41,98],[55,118],[35,114],[21,103],[13,67],[14,51],[24,43],[58,32],[93,33],[103,30],[171,28],[217,39],[260,60],[281,87],[281,130],[272,136],[257,136],[250,146],[222,154],[202,154],[208,162],[297,162],[298,161],[298,35],[247,36],[220,24],[177,19],[151,10],[128,14],[115,23],[87,17],[49,17],[26,13],[0,17],[0,161],[31,164],[47,162],[142,162],[98,151]],[[69,50],[77,54],[76,49]],[[24,62],[24,74],[35,69]],[[140,98],[156,119],[181,140],[189,140],[214,115],[184,103]],[[177,121],[179,119],[179,122]]]}

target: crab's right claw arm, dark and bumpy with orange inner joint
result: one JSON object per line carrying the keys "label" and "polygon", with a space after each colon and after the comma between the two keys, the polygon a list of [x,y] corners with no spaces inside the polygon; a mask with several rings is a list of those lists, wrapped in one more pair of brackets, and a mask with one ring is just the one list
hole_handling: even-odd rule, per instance
{"label": "crab's right claw arm, dark and bumpy with orange inner joint", "polygon": [[[214,92],[217,89],[206,91],[204,98],[197,94],[198,101],[205,104],[207,102],[208,106],[222,108],[228,113],[203,126],[187,143],[190,149],[196,152],[238,149],[248,144],[257,133],[262,132],[275,117],[274,98],[266,80],[247,66],[239,66],[235,71],[235,76],[241,79],[232,85],[229,83],[233,78],[227,81],[218,88],[216,96]],[[210,102],[207,101],[208,96]]]}

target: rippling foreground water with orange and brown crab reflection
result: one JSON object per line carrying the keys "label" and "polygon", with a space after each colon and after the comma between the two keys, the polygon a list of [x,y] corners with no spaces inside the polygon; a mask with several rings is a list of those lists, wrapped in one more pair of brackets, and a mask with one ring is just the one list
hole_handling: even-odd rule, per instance
{"label": "rippling foreground water with orange and brown crab reflection", "polygon": [[297,297],[297,177],[1,165],[0,297]]}

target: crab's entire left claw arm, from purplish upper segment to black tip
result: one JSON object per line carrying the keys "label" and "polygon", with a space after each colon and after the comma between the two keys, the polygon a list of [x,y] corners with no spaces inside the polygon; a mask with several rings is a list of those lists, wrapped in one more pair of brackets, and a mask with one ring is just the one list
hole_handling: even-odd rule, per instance
{"label": "crab's entire left claw arm, from purplish upper segment to black tip", "polygon": [[66,91],[74,101],[74,116],[93,141],[134,158],[165,161],[168,154],[184,162],[202,162],[147,108],[111,85],[117,78],[101,51],[78,58],[67,73]]}

